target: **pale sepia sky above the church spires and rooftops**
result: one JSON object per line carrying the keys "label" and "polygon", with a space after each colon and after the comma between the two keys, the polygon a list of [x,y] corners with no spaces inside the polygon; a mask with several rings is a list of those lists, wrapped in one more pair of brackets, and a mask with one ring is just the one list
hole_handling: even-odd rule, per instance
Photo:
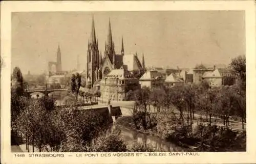
{"label": "pale sepia sky above the church spires and rooftops", "polygon": [[62,69],[86,69],[88,39],[94,15],[99,51],[104,54],[111,20],[115,51],[135,53],[145,65],[191,68],[196,64],[228,64],[245,54],[243,11],[111,11],[12,13],[12,69],[42,73],[56,61],[59,44]]}

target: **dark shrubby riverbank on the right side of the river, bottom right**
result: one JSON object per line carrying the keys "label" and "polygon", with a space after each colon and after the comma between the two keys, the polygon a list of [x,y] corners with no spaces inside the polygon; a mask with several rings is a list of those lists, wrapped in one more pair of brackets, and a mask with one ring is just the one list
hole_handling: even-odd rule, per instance
{"label": "dark shrubby riverbank on the right side of the river, bottom right", "polygon": [[215,126],[201,125],[198,125],[189,135],[165,128],[162,128],[162,131],[144,130],[136,128],[132,116],[120,117],[116,123],[119,126],[172,142],[187,151],[246,151],[246,132],[241,134]]}

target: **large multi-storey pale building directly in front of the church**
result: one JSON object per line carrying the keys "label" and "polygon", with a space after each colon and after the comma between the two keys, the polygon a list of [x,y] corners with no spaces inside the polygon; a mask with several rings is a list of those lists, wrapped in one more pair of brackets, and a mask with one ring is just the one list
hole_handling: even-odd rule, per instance
{"label": "large multi-storey pale building directly in front of the church", "polygon": [[124,100],[130,90],[140,88],[139,79],[125,69],[113,69],[100,81],[101,98],[104,100]]}

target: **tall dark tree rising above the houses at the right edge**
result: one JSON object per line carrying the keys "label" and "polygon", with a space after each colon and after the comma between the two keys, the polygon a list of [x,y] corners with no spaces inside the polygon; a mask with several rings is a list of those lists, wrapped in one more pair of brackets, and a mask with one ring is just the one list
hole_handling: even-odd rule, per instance
{"label": "tall dark tree rising above the houses at the right edge", "polygon": [[233,58],[230,63],[232,73],[241,79],[244,83],[246,80],[246,60],[245,56]]}

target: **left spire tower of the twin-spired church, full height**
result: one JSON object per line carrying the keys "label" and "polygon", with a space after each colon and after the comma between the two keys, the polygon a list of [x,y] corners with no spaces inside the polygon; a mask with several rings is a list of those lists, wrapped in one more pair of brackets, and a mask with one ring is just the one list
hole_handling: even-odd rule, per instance
{"label": "left spire tower of the twin-spired church, full height", "polygon": [[97,80],[96,70],[99,68],[99,49],[98,40],[96,40],[94,18],[92,20],[91,38],[88,42],[87,50],[87,79],[90,79],[93,86]]}

